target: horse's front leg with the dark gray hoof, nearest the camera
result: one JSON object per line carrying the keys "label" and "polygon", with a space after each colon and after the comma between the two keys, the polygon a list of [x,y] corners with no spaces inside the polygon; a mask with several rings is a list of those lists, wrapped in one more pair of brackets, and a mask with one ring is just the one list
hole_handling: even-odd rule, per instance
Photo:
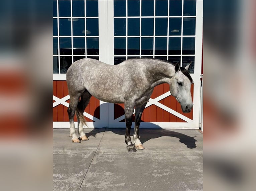
{"label": "horse's front leg with the dark gray hoof, nearest the camera", "polygon": [[134,103],[126,101],[124,103],[125,112],[125,123],[126,123],[126,133],[125,133],[125,143],[128,152],[136,152],[134,144],[131,141],[131,126],[132,126],[132,115],[133,115]]}

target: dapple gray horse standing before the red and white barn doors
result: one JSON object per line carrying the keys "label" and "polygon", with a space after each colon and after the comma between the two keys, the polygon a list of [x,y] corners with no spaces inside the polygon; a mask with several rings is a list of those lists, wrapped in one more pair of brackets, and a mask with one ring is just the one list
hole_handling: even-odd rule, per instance
{"label": "dapple gray horse standing before the red and white barn doors", "polygon": [[[80,139],[88,140],[83,128],[85,124],[83,112],[93,95],[105,102],[124,103],[127,150],[135,152],[136,149],[144,149],[139,139],[140,119],[155,86],[168,83],[170,93],[181,104],[182,111],[191,111],[193,102],[190,87],[193,80],[187,72],[189,65],[182,68],[178,63],[174,66],[167,61],[157,59],[129,59],[119,65],[108,65],[94,59],[74,62],[67,71],[70,95],[68,114],[72,142],[79,143]],[[130,131],[134,107],[133,144]],[[80,139],[75,131],[75,113],[78,118]]]}

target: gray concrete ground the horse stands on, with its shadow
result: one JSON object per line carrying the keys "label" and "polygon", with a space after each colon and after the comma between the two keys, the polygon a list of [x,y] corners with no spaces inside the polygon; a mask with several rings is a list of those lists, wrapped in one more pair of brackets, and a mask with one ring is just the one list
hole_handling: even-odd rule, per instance
{"label": "gray concrete ground the horse stands on, with its shadow", "polygon": [[[133,132],[133,129],[131,129]],[[203,190],[203,135],[194,129],[140,129],[145,147],[127,152],[125,129],[53,129],[53,190]]]}

